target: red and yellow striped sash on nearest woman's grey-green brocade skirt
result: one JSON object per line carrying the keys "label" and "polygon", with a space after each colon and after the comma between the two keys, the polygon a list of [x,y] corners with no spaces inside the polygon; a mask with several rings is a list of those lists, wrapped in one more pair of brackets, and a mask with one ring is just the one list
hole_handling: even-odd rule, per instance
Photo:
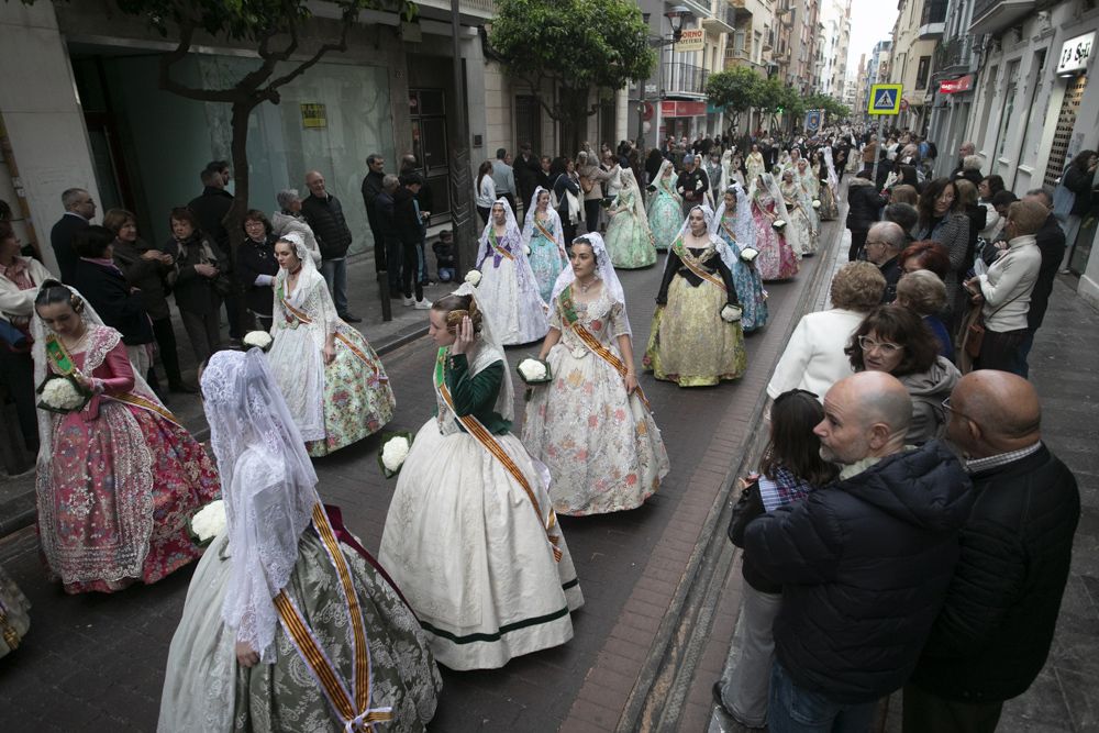
{"label": "red and yellow striped sash on nearest woman's grey-green brocade skirt", "polygon": [[302,660],[309,667],[313,677],[321,685],[325,697],[332,704],[340,720],[343,722],[346,733],[358,731],[373,731],[375,723],[392,720],[390,708],[370,709],[370,652],[367,646],[366,628],[363,622],[363,610],[358,603],[358,596],[355,592],[355,585],[347,567],[347,559],[340,549],[335,533],[329,523],[324,508],[317,503],[313,506],[313,529],[320,536],[329,559],[336,569],[340,577],[340,587],[344,596],[347,615],[351,620],[353,653],[355,660],[355,679],[353,690],[347,689],[346,682],[341,678],[332,660],[324,653],[323,647],[313,634],[309,624],[302,619],[298,607],[286,593],[279,591],[275,597],[275,607],[278,609],[279,619],[287,634],[293,641]]}

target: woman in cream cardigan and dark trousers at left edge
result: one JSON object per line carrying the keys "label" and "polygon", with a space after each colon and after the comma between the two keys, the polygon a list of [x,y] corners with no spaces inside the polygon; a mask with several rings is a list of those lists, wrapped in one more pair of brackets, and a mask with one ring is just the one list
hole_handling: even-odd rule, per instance
{"label": "woman in cream cardigan and dark trousers at left edge", "polygon": [[37,453],[31,315],[38,287],[57,278],[37,259],[21,256],[21,247],[11,224],[0,221],[0,381],[15,403],[26,449]]}

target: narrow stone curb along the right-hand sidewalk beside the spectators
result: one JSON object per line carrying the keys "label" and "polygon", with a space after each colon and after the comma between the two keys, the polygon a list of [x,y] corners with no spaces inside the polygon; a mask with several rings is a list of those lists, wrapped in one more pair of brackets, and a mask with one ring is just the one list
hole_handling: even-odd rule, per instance
{"label": "narrow stone curb along the right-hand sidewalk beside the spectators", "polygon": [[[835,238],[836,244],[833,246],[839,246],[839,242],[843,238],[843,218],[837,218],[837,221],[840,229]],[[830,249],[828,255],[822,256],[821,265],[814,270],[812,280],[799,297],[797,315],[790,321],[785,336],[786,342],[789,342],[790,334],[797,327],[801,315],[819,296],[822,281],[826,282],[826,278],[830,279],[832,269],[825,266],[824,257],[828,262],[832,262],[833,252]],[[781,354],[776,357],[776,363],[780,357]],[[762,422],[768,399],[766,391],[761,392],[750,422]],[[657,629],[648,658],[626,699],[625,708],[614,728],[615,733],[676,729],[695,669],[702,656],[725,578],[735,553],[739,552],[722,531],[732,514],[736,478],[758,462],[766,447],[767,437],[764,431],[757,431],[744,446],[741,460],[730,466],[730,471],[688,559],[687,569],[679,581],[671,604]]]}

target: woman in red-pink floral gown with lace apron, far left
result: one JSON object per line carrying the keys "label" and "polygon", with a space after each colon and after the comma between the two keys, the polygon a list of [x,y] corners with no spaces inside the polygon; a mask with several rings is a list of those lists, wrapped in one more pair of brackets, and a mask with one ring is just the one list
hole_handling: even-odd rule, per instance
{"label": "woman in red-pink floral gown with lace apron, far left", "polygon": [[51,280],[34,308],[36,382],[70,376],[92,392],[76,412],[38,412],[38,535],[49,569],[69,593],[156,582],[202,554],[187,520],[218,497],[218,471],[79,293]]}

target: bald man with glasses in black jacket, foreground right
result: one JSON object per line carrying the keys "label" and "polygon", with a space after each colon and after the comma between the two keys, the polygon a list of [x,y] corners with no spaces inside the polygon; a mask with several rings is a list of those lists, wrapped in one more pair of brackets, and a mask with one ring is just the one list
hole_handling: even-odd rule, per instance
{"label": "bald man with glasses in black jacket, foreground right", "polygon": [[975,502],[946,602],[904,687],[904,731],[991,733],[1003,701],[1026,691],[1050,653],[1080,495],[1042,444],[1037,395],[1022,377],[974,371],[944,406]]}

